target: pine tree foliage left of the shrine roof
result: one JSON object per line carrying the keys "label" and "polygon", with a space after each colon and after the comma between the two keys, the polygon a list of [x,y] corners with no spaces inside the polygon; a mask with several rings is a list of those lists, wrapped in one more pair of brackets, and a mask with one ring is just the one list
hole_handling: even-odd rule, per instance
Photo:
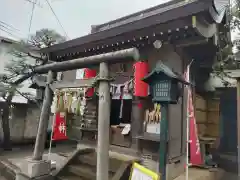
{"label": "pine tree foliage left of the shrine roof", "polygon": [[10,45],[9,55],[12,59],[5,64],[4,74],[0,74],[0,96],[6,98],[15,93],[27,99],[33,99],[29,93],[21,93],[22,85],[14,82],[22,75],[29,73],[37,62],[46,63],[45,55],[39,53],[40,48],[50,47],[66,39],[54,30],[41,29],[31,35],[28,41],[20,41]]}

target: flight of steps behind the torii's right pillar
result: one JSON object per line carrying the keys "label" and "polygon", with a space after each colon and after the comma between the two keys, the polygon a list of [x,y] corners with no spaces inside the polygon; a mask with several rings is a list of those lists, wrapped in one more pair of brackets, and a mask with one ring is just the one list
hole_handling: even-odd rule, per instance
{"label": "flight of steps behind the torii's right pillar", "polygon": [[[131,162],[110,153],[109,180],[126,180],[130,173]],[[66,166],[57,173],[56,180],[96,180],[97,153],[95,149],[83,149],[75,153]],[[127,173],[127,174],[126,174]]]}

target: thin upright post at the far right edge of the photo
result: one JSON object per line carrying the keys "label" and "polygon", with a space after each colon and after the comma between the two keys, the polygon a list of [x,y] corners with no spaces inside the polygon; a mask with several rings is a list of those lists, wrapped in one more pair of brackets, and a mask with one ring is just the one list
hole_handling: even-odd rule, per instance
{"label": "thin upright post at the far right edge of the photo", "polygon": [[238,179],[240,179],[240,78],[237,79],[237,139]]}

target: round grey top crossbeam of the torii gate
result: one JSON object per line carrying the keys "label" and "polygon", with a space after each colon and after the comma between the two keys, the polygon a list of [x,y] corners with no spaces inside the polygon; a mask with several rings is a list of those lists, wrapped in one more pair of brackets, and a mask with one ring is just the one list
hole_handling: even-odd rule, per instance
{"label": "round grey top crossbeam of the torii gate", "polygon": [[74,70],[79,68],[86,68],[88,66],[98,65],[99,63],[118,63],[126,60],[138,60],[139,52],[136,48],[130,48],[100,55],[94,55],[79,59],[73,59],[63,62],[55,62],[51,64],[45,64],[36,66],[33,70],[38,74],[45,74],[49,70],[53,72],[62,72],[68,70]]}

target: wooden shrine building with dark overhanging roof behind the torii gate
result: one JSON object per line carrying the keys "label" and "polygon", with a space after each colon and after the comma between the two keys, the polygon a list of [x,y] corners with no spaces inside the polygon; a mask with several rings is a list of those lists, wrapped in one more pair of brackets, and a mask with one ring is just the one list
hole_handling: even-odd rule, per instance
{"label": "wooden shrine building with dark overhanging roof behind the torii gate", "polygon": [[[212,129],[206,130],[219,127],[205,123],[207,110],[204,104],[219,102],[207,92],[204,84],[221,48],[229,42],[225,26],[227,4],[228,0],[170,1],[94,25],[89,35],[42,49],[42,52],[48,54],[51,61],[63,62],[133,47],[138,49],[140,61],[116,61],[109,65],[112,79],[110,149],[145,158],[145,163],[158,171],[159,145],[165,143],[160,138],[161,106],[153,102],[153,87],[143,78],[161,66],[163,71],[171,71],[184,79],[190,64],[199,137],[217,139],[217,130],[215,134]],[[66,112],[68,137],[91,147],[96,146],[98,133],[100,95],[95,83],[98,70],[99,67],[93,66],[65,71],[56,83],[58,98],[62,98],[57,109]],[[78,84],[80,79],[92,81],[86,81],[90,83],[88,88],[69,88],[68,84]],[[167,106],[166,114],[167,167],[168,171],[172,170],[169,179],[184,171],[186,155],[187,86],[180,84],[177,88],[177,102]],[[64,102],[68,107],[64,107]]]}

